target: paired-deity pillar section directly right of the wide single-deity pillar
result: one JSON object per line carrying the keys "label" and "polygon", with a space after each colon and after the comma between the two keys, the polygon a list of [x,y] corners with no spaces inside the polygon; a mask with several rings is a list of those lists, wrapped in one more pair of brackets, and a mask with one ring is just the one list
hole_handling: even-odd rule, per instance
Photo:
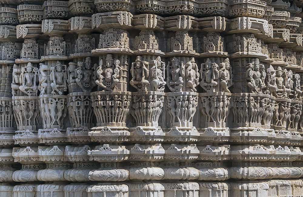
{"label": "paired-deity pillar section directly right of the wide single-deity pillar", "polygon": [[[160,57],[146,62],[138,56],[131,68],[130,84],[138,92],[132,93],[130,114],[136,122],[132,133],[135,141],[148,140],[151,135],[163,141],[164,133],[158,125],[158,120],[164,105],[165,63]],[[156,140],[157,141],[157,140]]]}

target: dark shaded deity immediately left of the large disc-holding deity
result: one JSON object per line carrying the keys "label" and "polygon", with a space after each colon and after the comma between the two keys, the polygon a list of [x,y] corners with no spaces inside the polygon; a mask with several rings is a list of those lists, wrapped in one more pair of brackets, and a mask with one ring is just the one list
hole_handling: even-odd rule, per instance
{"label": "dark shaded deity immediately left of the large disc-holding deity", "polygon": [[95,86],[92,80],[92,75],[94,70],[92,68],[92,60],[90,57],[85,58],[84,67],[82,62],[78,62],[78,67],[75,70],[77,73],[76,83],[82,89],[83,92],[91,92],[92,88]]}

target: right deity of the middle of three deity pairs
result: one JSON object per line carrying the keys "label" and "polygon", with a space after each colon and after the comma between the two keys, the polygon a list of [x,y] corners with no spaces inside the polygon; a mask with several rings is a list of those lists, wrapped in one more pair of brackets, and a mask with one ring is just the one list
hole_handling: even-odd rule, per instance
{"label": "right deity of the middle of three deity pairs", "polygon": [[195,62],[195,58],[191,58],[191,60],[185,64],[186,90],[197,92],[196,87],[199,85],[199,78],[198,65]]}

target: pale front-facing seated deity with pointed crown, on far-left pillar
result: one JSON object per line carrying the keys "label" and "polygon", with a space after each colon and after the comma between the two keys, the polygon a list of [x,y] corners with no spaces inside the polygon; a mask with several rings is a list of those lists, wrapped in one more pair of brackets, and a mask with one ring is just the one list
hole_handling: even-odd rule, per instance
{"label": "pale front-facing seated deity with pointed crown, on far-left pillar", "polygon": [[32,63],[28,63],[27,66],[21,69],[20,74],[20,86],[21,92],[24,92],[28,96],[36,96],[38,88],[36,85],[38,76],[38,68],[34,68]]}

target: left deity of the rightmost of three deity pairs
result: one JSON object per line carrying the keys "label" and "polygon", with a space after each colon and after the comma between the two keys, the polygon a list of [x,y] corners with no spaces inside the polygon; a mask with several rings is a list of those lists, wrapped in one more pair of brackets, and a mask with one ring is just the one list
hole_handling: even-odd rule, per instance
{"label": "left deity of the rightmost of three deity pairs", "polygon": [[200,86],[206,92],[215,92],[219,78],[218,67],[218,64],[212,63],[209,58],[206,59],[205,63],[201,64],[200,76],[202,81],[200,82]]}

